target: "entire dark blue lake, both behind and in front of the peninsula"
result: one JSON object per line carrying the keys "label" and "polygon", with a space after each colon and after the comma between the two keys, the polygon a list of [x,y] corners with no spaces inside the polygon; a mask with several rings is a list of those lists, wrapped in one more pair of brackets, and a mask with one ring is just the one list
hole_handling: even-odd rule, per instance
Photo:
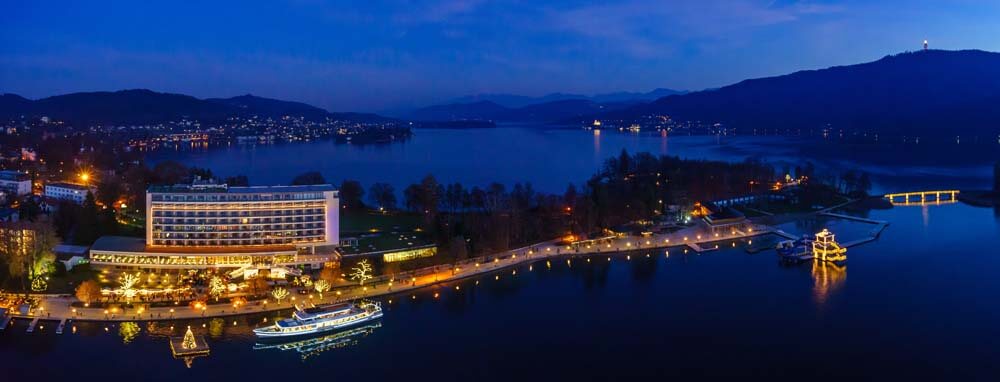
{"label": "entire dark blue lake, both behind and in front of the peninsula", "polygon": [[[530,181],[562,192],[622,149],[760,157],[779,169],[805,160],[864,169],[876,191],[984,188],[997,155],[988,144],[841,145],[504,127],[418,130],[412,140],[387,146],[309,142],[159,150],[148,158],[247,174],[252,184],[287,183],[319,170],[366,186],[402,188],[433,173],[445,182]],[[951,203],[867,216],[891,225],[878,241],[852,248],[846,267],[781,265],[774,251],[749,254],[751,243],[724,241],[721,250],[700,255],[674,248],[669,256],[559,259],[383,298],[386,314],[377,327],[297,344],[256,344],[249,329],[273,322],[273,314],[80,322],[64,335],[54,334],[53,323],[27,334],[22,320],[0,333],[0,359],[14,380],[1000,379],[1000,210]],[[781,228],[830,228],[848,241],[871,227],[808,219]],[[172,358],[166,339],[187,325],[212,347],[191,368]]]}

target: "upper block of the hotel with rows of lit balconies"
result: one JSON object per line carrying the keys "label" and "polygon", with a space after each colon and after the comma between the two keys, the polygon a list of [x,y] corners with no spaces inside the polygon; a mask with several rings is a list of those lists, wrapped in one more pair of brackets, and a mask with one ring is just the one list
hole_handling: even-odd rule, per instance
{"label": "upper block of the hotel with rows of lit balconies", "polygon": [[151,247],[336,245],[339,202],[330,185],[172,186],[146,193]]}

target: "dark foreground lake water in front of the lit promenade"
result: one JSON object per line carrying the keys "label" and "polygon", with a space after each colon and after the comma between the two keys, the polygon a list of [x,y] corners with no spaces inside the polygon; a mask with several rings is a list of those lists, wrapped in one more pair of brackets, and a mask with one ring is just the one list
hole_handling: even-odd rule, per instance
{"label": "dark foreground lake water in front of the lit promenade", "polygon": [[[870,217],[891,226],[843,269],[782,266],[773,251],[728,241],[701,255],[535,263],[384,300],[381,327],[305,360],[253,350],[254,317],[192,323],[212,353],[191,369],[147,324],[126,341],[118,325],[57,336],[52,324],[26,334],[21,322],[0,334],[0,364],[12,380],[1000,378],[998,214],[950,204]],[[815,224],[825,225],[796,233]],[[829,226],[845,236],[868,228],[852,224]],[[180,335],[183,325],[152,332]]]}

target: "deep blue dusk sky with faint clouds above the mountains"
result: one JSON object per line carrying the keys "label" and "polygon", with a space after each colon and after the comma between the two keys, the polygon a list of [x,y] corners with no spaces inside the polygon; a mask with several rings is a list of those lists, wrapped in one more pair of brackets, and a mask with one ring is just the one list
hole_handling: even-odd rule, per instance
{"label": "deep blue dusk sky with faint clouds above the mountains", "polygon": [[0,92],[246,93],[334,111],[466,94],[703,89],[1000,50],[988,1],[6,1]]}

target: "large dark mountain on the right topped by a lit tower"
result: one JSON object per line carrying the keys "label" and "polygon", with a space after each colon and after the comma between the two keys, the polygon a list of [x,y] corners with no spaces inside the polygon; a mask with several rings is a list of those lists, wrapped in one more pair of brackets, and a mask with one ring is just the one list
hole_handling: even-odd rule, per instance
{"label": "large dark mountain on the right topped by a lit tower", "polygon": [[743,131],[830,127],[897,136],[996,139],[998,105],[1000,53],[923,50],[668,96],[601,117],[668,115]]}

